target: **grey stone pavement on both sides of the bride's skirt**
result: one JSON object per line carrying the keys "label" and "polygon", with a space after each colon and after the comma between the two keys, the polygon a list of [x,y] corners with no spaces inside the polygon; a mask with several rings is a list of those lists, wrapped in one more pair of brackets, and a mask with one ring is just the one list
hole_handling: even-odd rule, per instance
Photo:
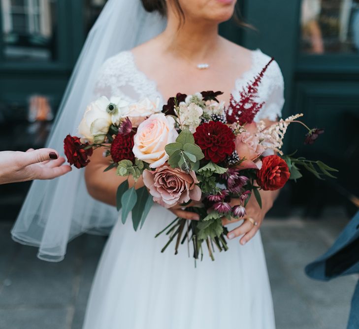
{"label": "grey stone pavement on both sides of the bride's skirt", "polygon": [[[277,329],[346,328],[358,278],[322,283],[308,279],[303,267],[326,251],[347,220],[337,210],[317,220],[265,220],[261,234]],[[77,238],[64,261],[48,263],[34,248],[14,243],[10,228],[0,223],[0,329],[81,329],[104,238]]]}

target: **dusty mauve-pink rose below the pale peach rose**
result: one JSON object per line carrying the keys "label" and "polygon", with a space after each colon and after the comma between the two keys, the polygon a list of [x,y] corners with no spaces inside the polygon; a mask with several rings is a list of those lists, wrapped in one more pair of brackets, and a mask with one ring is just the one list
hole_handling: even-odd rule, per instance
{"label": "dusty mauve-pink rose below the pale peach rose", "polygon": [[199,201],[201,190],[196,185],[198,180],[194,171],[186,174],[181,169],[167,165],[156,168],[156,171],[145,170],[143,182],[150,190],[153,200],[164,208],[171,208],[177,203],[190,200]]}

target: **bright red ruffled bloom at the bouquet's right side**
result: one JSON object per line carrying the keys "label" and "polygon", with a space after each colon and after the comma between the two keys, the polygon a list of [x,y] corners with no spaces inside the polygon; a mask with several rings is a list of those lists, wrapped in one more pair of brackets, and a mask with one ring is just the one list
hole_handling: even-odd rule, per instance
{"label": "bright red ruffled bloom at the bouquet's right side", "polygon": [[288,165],[278,155],[269,155],[262,158],[261,170],[257,172],[257,183],[265,191],[274,191],[282,188],[289,178]]}

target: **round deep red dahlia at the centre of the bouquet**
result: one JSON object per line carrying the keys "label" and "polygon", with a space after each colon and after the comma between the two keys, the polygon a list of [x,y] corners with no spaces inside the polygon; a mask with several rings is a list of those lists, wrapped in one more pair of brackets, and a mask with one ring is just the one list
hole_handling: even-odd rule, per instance
{"label": "round deep red dahlia at the centre of the bouquet", "polygon": [[222,122],[209,121],[197,127],[193,134],[196,144],[202,149],[206,160],[219,163],[233,153],[235,135]]}

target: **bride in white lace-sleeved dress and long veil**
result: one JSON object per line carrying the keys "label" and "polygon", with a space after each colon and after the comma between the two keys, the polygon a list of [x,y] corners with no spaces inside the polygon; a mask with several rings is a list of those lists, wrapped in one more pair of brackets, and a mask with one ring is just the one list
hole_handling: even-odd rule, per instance
{"label": "bride in white lace-sleeved dress and long veil", "polygon": [[[227,104],[231,93],[238,98],[270,58],[218,35],[234,6],[235,0],[109,0],[85,44],[49,144],[59,145],[85,105],[99,96],[159,98],[161,106],[177,92],[221,90]],[[259,86],[265,104],[256,121],[269,124],[280,116],[283,89],[282,73],[272,62]],[[251,198],[247,219],[224,220],[229,251],[214,262],[204,257],[195,268],[187,251],[174,256],[168,248],[161,254],[166,236],[154,236],[175,217],[197,215],[156,204],[134,232],[113,207],[124,178],[103,172],[107,166],[98,149],[85,171],[34,183],[12,229],[16,241],[39,246],[38,256],[50,261],[63,259],[67,241],[80,233],[110,230],[84,329],[275,328],[259,227],[276,192],[261,191],[262,209]],[[141,186],[140,179],[135,187]]]}

